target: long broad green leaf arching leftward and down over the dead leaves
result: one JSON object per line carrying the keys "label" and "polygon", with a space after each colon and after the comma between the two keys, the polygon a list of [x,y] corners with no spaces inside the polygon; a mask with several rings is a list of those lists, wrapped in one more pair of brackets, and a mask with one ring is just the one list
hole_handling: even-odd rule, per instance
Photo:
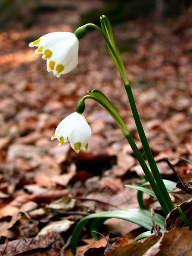
{"label": "long broad green leaf arching leftward and down over the dead leaves", "polygon": [[[152,228],[151,212],[148,210],[128,209],[128,210],[99,212],[99,213],[90,214],[84,217],[81,221],[79,221],[79,223],[77,224],[77,226],[73,231],[71,243],[70,243],[71,251],[73,255],[76,255],[77,241],[79,239],[82,228],[87,223],[87,221],[92,218],[119,218],[125,221],[130,221],[132,223],[138,224],[141,227],[145,227],[148,230],[151,230]],[[163,228],[165,218],[163,218],[161,215],[157,213],[155,213],[154,218],[155,218],[155,224]]]}

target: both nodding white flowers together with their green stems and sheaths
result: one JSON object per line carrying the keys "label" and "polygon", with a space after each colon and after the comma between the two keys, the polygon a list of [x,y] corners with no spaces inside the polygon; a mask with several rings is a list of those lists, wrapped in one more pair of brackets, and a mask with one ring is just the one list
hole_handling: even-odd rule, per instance
{"label": "both nodding white flowers together with their green stems and sheaths", "polygon": [[84,96],[76,107],[76,112],[65,118],[55,130],[55,134],[52,136],[52,140],[57,138],[59,140],[59,145],[65,142],[70,142],[72,148],[79,153],[82,147],[87,149],[87,143],[91,136],[91,129],[87,124],[86,119],[83,116],[83,111],[85,109],[84,100],[93,99],[102,105],[116,121],[119,128],[125,135],[128,143],[134,151],[149,183],[151,184],[154,193],[160,202],[165,214],[168,214],[173,208],[174,204],[171,201],[169,193],[166,189],[160,172],[157,168],[157,164],[154,160],[151,148],[148,144],[145,132],[140,121],[140,116],[137,111],[137,107],[134,101],[134,96],[131,90],[131,85],[128,81],[128,76],[125,71],[125,66],[122,61],[119,48],[116,44],[116,38],[113,33],[113,29],[107,17],[102,15],[100,17],[101,29],[93,23],[87,23],[84,26],[76,29],[74,33],[71,32],[52,32],[47,35],[38,38],[37,40],[31,42],[29,47],[38,47],[35,53],[41,53],[43,59],[47,59],[47,70],[48,72],[53,72],[54,76],[60,77],[62,74],[66,74],[73,70],[78,63],[78,50],[79,50],[79,39],[81,39],[90,27],[96,29],[104,38],[108,52],[116,65],[117,70],[122,78],[125,90],[130,102],[131,111],[137,126],[137,131],[140,136],[141,143],[145,152],[145,156],[148,160],[149,167],[145,163],[142,155],[140,154],[137,145],[135,144],[128,128],[123,122],[119,112],[113,106],[113,104],[108,100],[108,98],[101,93],[99,90],[88,91],[90,95]]}

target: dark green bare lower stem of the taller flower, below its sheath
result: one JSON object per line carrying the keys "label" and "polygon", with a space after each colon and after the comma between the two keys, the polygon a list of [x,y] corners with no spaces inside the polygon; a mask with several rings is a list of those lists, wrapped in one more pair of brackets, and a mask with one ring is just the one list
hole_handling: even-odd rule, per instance
{"label": "dark green bare lower stem of the taller flower, below its sheath", "polygon": [[174,209],[174,204],[172,203],[172,200],[169,196],[169,193],[166,189],[166,186],[165,186],[165,184],[163,182],[163,179],[160,175],[160,172],[157,168],[157,164],[154,160],[153,154],[151,152],[151,148],[150,148],[150,146],[148,144],[148,141],[147,141],[147,138],[145,136],[145,132],[143,130],[142,123],[140,121],[140,116],[138,114],[137,107],[135,105],[135,101],[134,101],[134,97],[133,97],[133,93],[132,93],[130,84],[125,84],[125,90],[126,90],[127,95],[128,95],[128,99],[129,99],[129,102],[130,102],[130,105],[131,105],[131,111],[132,111],[133,116],[134,116],[134,120],[135,120],[135,123],[136,123],[136,126],[137,126],[137,131],[139,133],[140,140],[141,140],[141,143],[143,145],[143,150],[144,150],[145,156],[148,160],[151,172],[154,175],[154,179],[157,182],[157,185],[159,186],[159,188],[161,190],[161,193],[163,194],[164,198],[166,199],[166,203],[169,207],[169,211],[171,211],[172,209]]}

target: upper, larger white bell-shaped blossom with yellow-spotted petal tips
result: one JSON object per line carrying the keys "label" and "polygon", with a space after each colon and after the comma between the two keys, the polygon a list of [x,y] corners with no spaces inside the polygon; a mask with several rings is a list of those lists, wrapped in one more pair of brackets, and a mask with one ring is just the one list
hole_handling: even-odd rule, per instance
{"label": "upper, larger white bell-shaped blossom with yellow-spotted petal tips", "polygon": [[29,47],[38,47],[35,53],[42,53],[47,59],[47,71],[60,77],[69,73],[78,63],[79,41],[70,32],[52,32],[31,42]]}

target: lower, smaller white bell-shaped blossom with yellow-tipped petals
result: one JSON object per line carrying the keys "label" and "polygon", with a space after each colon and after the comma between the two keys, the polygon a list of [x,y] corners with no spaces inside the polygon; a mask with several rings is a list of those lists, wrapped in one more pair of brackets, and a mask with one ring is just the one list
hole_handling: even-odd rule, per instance
{"label": "lower, smaller white bell-shaped blossom with yellow-tipped petals", "polygon": [[91,128],[87,120],[83,114],[74,112],[60,122],[51,140],[58,139],[59,146],[69,141],[71,147],[79,153],[83,147],[87,150],[90,137]]}

